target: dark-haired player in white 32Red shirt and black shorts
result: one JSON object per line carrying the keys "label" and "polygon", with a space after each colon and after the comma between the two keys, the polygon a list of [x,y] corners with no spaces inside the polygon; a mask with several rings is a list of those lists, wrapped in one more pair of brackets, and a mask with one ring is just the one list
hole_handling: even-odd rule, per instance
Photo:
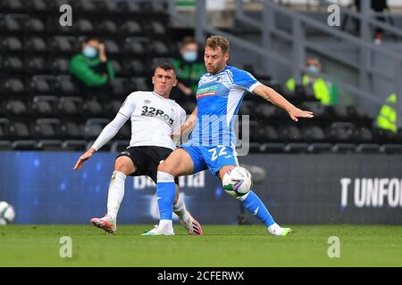
{"label": "dark-haired player in white 32Red shirt and black shorts", "polygon": [[[180,126],[186,119],[186,111],[179,104],[169,99],[172,87],[177,84],[176,71],[170,62],[156,66],[153,92],[138,91],[131,93],[111,123],[102,130],[94,144],[80,156],[74,170],[80,170],[84,162],[96,151],[109,142],[131,119],[130,147],[122,151],[114,162],[111,178],[107,214],[101,218],[92,218],[91,224],[105,230],[116,232],[116,217],[124,197],[126,177],[148,175],[156,183],[157,167],[175,150],[172,134],[180,132]],[[203,234],[200,224],[188,213],[184,200],[179,196],[179,183],[176,179],[176,198],[173,211],[179,216],[180,223],[188,234]]]}

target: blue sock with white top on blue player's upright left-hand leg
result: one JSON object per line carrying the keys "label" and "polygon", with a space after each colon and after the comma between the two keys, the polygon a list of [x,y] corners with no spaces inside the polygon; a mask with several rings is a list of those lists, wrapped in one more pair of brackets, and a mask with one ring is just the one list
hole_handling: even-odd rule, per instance
{"label": "blue sock with white top on blue player's upright left-hand leg", "polygon": [[158,171],[156,196],[161,220],[172,220],[173,202],[176,195],[174,177],[168,173]]}

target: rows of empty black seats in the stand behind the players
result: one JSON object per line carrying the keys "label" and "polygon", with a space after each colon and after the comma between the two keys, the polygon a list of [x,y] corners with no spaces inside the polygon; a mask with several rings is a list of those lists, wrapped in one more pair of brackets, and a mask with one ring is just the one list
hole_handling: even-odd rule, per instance
{"label": "rows of empty black seats in the stand behind the players", "polygon": [[[54,24],[58,9],[51,8],[58,1],[4,0],[0,4],[2,150],[83,151],[114,117],[125,96],[152,87],[153,63],[173,56],[172,30],[163,3],[63,2],[72,4],[78,17],[72,28]],[[95,9],[99,17],[94,17]],[[68,71],[71,55],[80,50],[80,38],[89,35],[105,41],[115,69],[107,103],[88,99]],[[281,85],[272,87],[283,94]],[[284,95],[314,111],[314,119],[294,124],[282,110],[246,96],[240,114],[250,114],[251,151],[402,152],[402,131],[392,134],[376,129],[373,118],[360,107],[323,106],[302,86]],[[193,102],[183,105],[188,114],[194,107]],[[103,151],[121,150],[130,139],[129,124]]]}

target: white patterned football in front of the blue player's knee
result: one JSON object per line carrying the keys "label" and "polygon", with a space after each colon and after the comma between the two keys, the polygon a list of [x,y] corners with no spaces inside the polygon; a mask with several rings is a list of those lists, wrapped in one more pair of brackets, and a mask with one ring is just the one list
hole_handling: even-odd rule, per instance
{"label": "white patterned football in front of the blue player's knee", "polygon": [[223,189],[234,197],[247,194],[253,187],[253,180],[250,173],[244,167],[234,167],[229,170],[222,179]]}

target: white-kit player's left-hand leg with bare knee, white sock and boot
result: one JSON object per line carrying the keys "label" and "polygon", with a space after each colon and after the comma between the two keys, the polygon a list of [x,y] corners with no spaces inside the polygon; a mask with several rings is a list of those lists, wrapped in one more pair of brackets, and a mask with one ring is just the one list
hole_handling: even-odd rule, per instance
{"label": "white-kit player's left-hand leg with bare knee, white sock and boot", "polygon": [[124,197],[124,184],[128,175],[138,167],[128,156],[119,156],[114,161],[114,171],[109,184],[107,196],[107,214],[101,218],[92,218],[91,223],[106,232],[116,232],[116,220],[121,201]]}

